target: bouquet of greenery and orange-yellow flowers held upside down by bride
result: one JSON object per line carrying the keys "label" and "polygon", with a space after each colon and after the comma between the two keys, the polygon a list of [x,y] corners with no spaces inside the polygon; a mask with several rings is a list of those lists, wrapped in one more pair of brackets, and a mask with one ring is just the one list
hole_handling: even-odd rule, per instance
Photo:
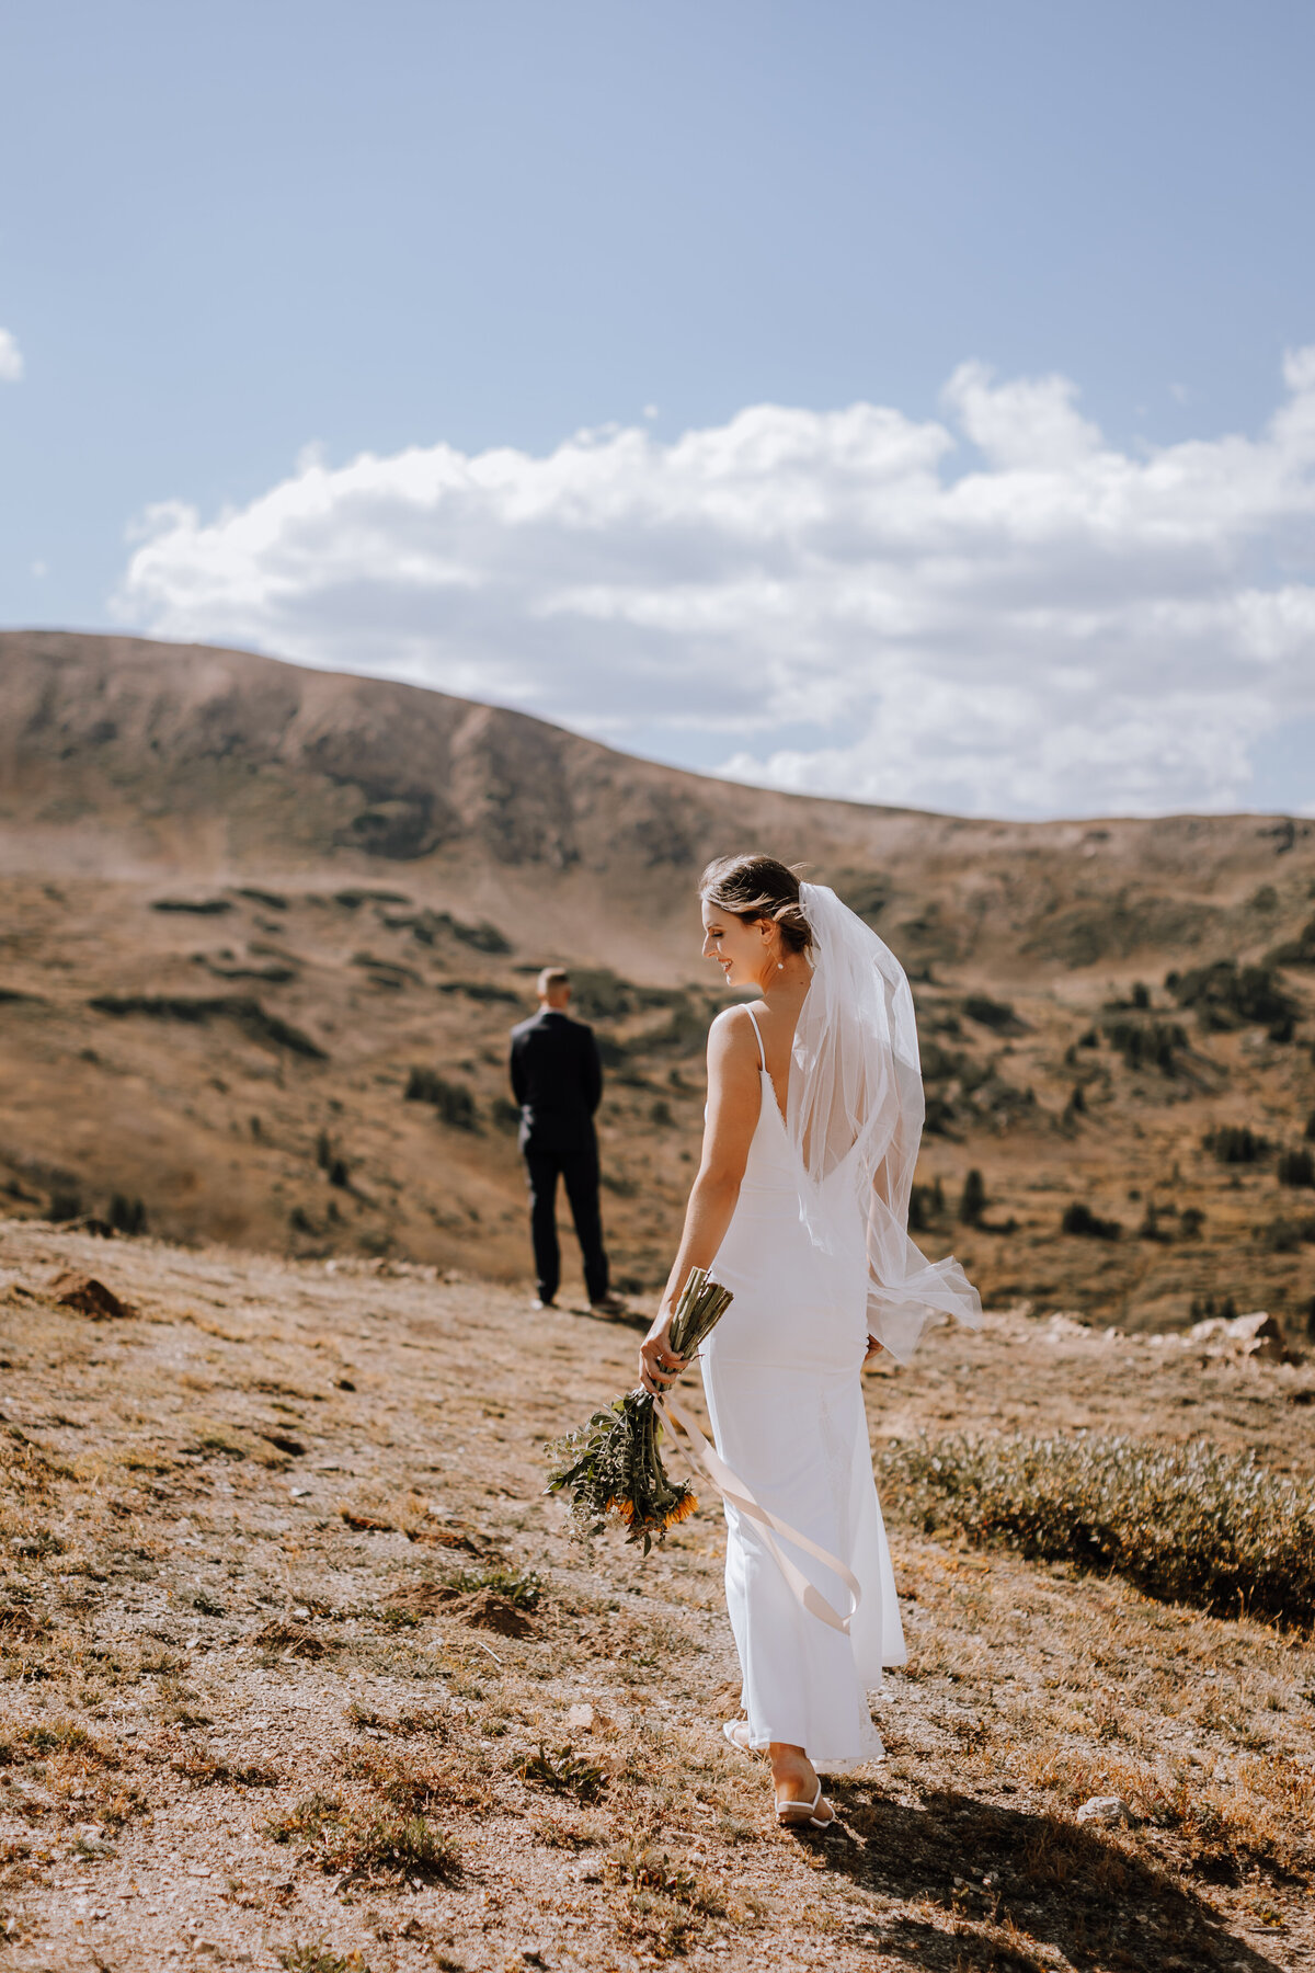
{"label": "bouquet of greenery and orange-yellow flowers held upside down by bride", "polygon": [[[692,1357],[731,1304],[729,1288],[690,1269],[670,1318],[672,1355]],[[666,1529],[694,1513],[698,1499],[662,1466],[662,1426],[651,1391],[627,1391],[588,1425],[548,1446],[556,1460],[548,1494],[570,1494],[572,1521],[580,1535],[599,1535],[607,1515],[625,1521],[627,1541],[643,1541],[645,1555]]]}

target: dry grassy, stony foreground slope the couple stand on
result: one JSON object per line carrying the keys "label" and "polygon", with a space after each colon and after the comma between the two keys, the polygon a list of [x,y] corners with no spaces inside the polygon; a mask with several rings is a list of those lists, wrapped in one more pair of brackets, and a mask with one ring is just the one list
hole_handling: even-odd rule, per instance
{"label": "dry grassy, stony foreground slope the couple stand on", "polygon": [[[891,1529],[889,1758],[836,1833],[777,1829],[720,1734],[718,1513],[645,1563],[542,1496],[633,1355],[434,1267],[0,1223],[4,1963],[1313,1963],[1309,1640],[952,1529]],[[1315,1466],[1303,1363],[1017,1308],[867,1397],[877,1452],[1094,1428]],[[1098,1795],[1128,1821],[1078,1823]]]}

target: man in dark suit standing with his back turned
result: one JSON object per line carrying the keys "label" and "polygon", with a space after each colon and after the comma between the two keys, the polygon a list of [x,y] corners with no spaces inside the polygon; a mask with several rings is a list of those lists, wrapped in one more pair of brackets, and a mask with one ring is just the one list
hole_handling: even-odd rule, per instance
{"label": "man in dark suit standing with his back turned", "polygon": [[562,1277],[558,1251],[558,1174],[566,1180],[576,1239],[584,1255],[589,1308],[621,1314],[607,1292],[607,1255],[597,1209],[597,1136],[593,1111],[603,1093],[603,1065],[593,1028],[572,1020],[564,967],[538,975],[538,1014],[511,1030],[511,1087],[520,1105],[520,1152],[530,1182],[530,1235],[538,1292],[534,1308],[552,1308]]}

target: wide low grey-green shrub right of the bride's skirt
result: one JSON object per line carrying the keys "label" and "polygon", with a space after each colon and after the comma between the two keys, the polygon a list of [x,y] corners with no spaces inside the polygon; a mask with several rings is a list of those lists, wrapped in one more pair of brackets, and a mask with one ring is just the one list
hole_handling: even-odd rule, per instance
{"label": "wide low grey-green shrub right of the bride's skirt", "polygon": [[1207,1440],[952,1436],[893,1446],[883,1499],[1035,1561],[1114,1571],[1216,1616],[1315,1622],[1315,1484]]}

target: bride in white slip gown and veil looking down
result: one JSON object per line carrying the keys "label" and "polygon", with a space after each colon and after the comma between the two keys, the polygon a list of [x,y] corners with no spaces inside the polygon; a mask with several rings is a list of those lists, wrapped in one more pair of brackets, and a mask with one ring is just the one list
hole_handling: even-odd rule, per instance
{"label": "bride in white slip gown and veil looking down", "polygon": [[[704,957],[761,1000],[708,1034],[704,1154],[641,1381],[678,1377],[670,1314],[710,1269],[735,1296],[700,1352],[741,1501],[726,1505],[726,1602],[747,1718],[724,1732],[767,1750],[779,1821],[820,1829],[818,1770],[879,1758],[867,1693],[905,1661],[860,1371],[881,1348],[907,1361],[942,1312],[978,1328],[982,1304],[907,1233],[923,1079],[893,953],[775,856],[712,862],[700,896]],[[789,1527],[789,1559],[751,1505]]]}

